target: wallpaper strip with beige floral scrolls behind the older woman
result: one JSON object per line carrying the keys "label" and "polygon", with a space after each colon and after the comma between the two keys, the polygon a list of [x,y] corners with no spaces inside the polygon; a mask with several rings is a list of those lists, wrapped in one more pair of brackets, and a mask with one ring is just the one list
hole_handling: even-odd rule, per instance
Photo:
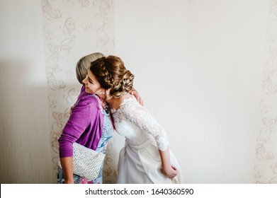
{"label": "wallpaper strip with beige floral scrolls behind the older woman", "polygon": [[[113,1],[42,0],[41,6],[55,174],[59,160],[57,139],[81,88],[75,74],[77,61],[92,52],[112,54],[114,51]],[[113,142],[112,139],[107,149],[104,183],[114,183],[117,174]]]}

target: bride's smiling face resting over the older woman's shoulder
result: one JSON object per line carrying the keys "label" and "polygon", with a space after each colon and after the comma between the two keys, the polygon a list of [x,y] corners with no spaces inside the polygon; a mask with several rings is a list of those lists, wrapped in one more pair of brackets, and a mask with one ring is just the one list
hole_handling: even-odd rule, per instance
{"label": "bride's smiling face resting over the older woman's shoulder", "polygon": [[103,95],[104,88],[101,88],[100,83],[97,81],[94,74],[92,74],[91,70],[88,69],[88,75],[82,81],[85,86],[86,93],[95,93],[97,95]]}

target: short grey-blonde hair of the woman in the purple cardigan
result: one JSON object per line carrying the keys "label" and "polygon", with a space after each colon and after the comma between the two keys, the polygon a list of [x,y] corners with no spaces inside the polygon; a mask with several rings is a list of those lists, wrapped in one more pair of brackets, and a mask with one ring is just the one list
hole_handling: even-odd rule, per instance
{"label": "short grey-blonde hair of the woman in the purple cardigan", "polygon": [[104,56],[105,55],[100,52],[95,52],[79,59],[79,62],[76,64],[76,76],[79,83],[82,83],[84,78],[86,78],[86,74],[88,74],[88,69],[89,66],[91,66],[91,62],[94,62],[96,59]]}

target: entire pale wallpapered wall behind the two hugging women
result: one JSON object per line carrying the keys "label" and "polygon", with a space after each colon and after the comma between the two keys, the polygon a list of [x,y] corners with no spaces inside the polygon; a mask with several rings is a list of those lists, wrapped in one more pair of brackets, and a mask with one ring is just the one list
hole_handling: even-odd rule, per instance
{"label": "entire pale wallpapered wall behind the two hugging women", "polygon": [[[272,1],[1,1],[0,182],[55,183],[74,67],[115,54],[169,134],[186,183],[277,182]],[[97,15],[98,14],[98,15]],[[115,182],[123,138],[109,146]]]}

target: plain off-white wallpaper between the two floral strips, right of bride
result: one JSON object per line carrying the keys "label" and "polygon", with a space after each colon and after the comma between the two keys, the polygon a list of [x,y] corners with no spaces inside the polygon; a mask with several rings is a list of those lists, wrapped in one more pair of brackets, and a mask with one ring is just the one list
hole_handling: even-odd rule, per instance
{"label": "plain off-white wallpaper between the two floral strips, right of bride", "polygon": [[267,9],[266,1],[115,1],[115,52],[188,183],[255,182]]}

